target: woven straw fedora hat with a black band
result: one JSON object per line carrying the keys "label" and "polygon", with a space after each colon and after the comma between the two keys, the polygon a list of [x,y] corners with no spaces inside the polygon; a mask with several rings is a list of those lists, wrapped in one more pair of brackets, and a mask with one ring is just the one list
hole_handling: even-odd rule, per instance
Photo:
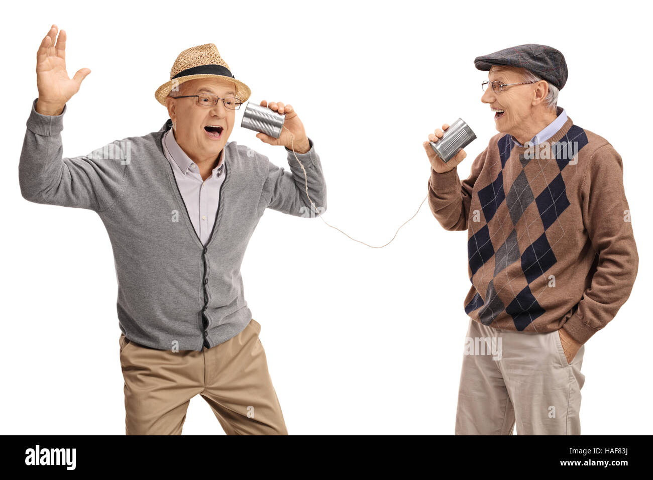
{"label": "woven straw fedora hat with a black band", "polygon": [[236,97],[244,102],[251,95],[246,84],[236,80],[229,70],[229,65],[222,59],[217,47],[212,43],[187,48],[179,54],[170,70],[170,81],[154,93],[154,97],[165,106],[165,97],[174,88],[195,78],[225,78],[236,84]]}

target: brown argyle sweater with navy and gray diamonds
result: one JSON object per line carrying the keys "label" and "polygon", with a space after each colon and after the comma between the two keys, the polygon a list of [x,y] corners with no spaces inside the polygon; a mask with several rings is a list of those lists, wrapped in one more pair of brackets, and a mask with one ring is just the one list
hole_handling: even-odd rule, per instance
{"label": "brown argyle sweater with navy and gray diamonds", "polygon": [[460,182],[431,168],[428,203],[447,230],[468,230],[464,310],[501,330],[564,328],[584,344],[630,295],[639,257],[620,155],[574,125],[535,147],[490,139]]}

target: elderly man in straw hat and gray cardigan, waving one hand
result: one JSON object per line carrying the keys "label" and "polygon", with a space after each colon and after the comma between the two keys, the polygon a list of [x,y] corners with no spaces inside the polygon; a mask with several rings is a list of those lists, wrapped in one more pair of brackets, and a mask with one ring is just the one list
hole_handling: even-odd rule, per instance
{"label": "elderly man in straw hat and gray cardigan, waving one hand", "polygon": [[[40,44],[20,189],[31,202],[94,210],[106,226],[126,433],[181,434],[200,394],[227,434],[287,434],[240,264],[266,208],[306,216],[315,210],[308,185],[311,216],[326,209],[322,166],[302,122],[289,104],[261,102],[286,115],[279,138],[257,137],[285,146],[290,171],[227,142],[250,91],[205,44],[184,50],[157,89],[170,116],[159,131],[62,158],[66,103],[90,72],[69,79],[65,42],[53,25]],[[294,254],[301,261],[306,251]]]}

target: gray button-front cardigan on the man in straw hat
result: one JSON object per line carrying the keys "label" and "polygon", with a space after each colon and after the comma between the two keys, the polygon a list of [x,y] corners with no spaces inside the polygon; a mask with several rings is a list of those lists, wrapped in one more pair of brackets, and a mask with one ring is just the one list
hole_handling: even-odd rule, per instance
{"label": "gray button-front cardigan on the man in straw hat", "polygon": [[36,100],[18,165],[20,191],[41,204],[94,210],[114,252],[119,328],[129,340],[156,349],[214,347],[251,320],[240,264],[266,208],[317,217],[327,208],[327,187],[312,140],[287,150],[290,171],[236,142],[224,150],[214,229],[206,248],[193,228],[157,132],[116,140],[88,155],[62,158],[63,115],[41,115]]}

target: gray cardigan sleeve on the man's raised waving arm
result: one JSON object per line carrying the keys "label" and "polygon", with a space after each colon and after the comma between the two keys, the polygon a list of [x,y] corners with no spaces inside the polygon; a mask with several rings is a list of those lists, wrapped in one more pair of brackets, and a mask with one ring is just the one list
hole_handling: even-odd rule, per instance
{"label": "gray cardigan sleeve on the man's raised waving arm", "polygon": [[129,166],[129,140],[115,140],[88,155],[63,157],[63,115],[39,114],[37,99],[27,119],[18,180],[25,200],[40,204],[108,210],[121,195]]}

